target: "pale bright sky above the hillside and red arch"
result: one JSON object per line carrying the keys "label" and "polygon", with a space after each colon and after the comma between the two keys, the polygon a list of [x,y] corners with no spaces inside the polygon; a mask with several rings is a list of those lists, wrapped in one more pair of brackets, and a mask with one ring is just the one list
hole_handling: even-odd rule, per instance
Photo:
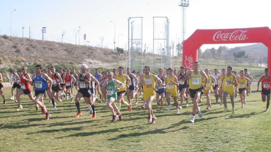
{"label": "pale bright sky above the hillside and red arch", "polygon": [[[58,1],[22,1],[0,0],[0,34],[10,35],[10,13],[12,13],[12,34],[41,39],[43,26],[47,27],[47,40],[61,41],[65,31],[64,42],[75,44],[74,31],[80,29],[80,44],[83,44],[83,33],[87,35],[90,45],[100,45],[100,37],[104,37],[104,46],[114,48],[114,23],[116,24],[116,46],[118,36],[120,47],[127,43],[127,19],[140,16],[143,18],[143,44],[152,48],[152,17],[167,16],[170,21],[170,41],[181,37],[181,9],[178,0],[58,0]],[[187,8],[186,37],[196,29],[222,29],[244,27],[271,27],[271,2],[268,0],[190,0]],[[158,25],[163,25],[160,22]],[[135,27],[140,27],[140,21],[135,20]],[[160,29],[156,30],[158,35]],[[163,32],[163,30],[161,29]],[[140,36],[140,29],[134,31]],[[137,34],[136,34],[137,33]],[[160,33],[160,37],[163,33]],[[178,40],[177,40],[178,41]],[[160,43],[160,42],[159,42]],[[77,37],[78,44],[78,37]],[[155,42],[155,46],[158,42]],[[222,44],[223,45],[223,44]],[[240,45],[240,44],[239,44]],[[239,46],[226,45],[228,47]],[[244,45],[244,44],[241,44]],[[218,47],[203,45],[202,49]]]}

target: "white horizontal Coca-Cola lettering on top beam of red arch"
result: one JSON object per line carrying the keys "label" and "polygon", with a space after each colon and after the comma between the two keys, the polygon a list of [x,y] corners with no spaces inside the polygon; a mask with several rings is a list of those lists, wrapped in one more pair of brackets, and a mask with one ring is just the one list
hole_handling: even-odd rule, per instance
{"label": "white horizontal Coca-Cola lettering on top beam of red arch", "polygon": [[235,30],[232,33],[222,33],[221,31],[217,31],[214,36],[214,41],[244,41],[248,39],[245,34],[249,30]]}

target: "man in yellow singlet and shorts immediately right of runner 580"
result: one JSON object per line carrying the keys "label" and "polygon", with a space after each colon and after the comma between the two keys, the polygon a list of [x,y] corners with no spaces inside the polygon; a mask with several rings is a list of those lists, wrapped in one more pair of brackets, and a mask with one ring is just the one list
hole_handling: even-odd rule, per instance
{"label": "man in yellow singlet and shorts immediately right of runner 580", "polygon": [[[212,92],[212,87],[214,86],[214,83],[216,81],[216,78],[212,75],[210,75],[210,70],[208,68],[205,69],[205,73],[208,76],[207,82],[206,82],[206,90],[204,91],[204,94],[206,95],[206,100],[207,100],[207,110],[212,107],[211,100],[210,100],[210,94]],[[214,83],[212,83],[212,80]]]}

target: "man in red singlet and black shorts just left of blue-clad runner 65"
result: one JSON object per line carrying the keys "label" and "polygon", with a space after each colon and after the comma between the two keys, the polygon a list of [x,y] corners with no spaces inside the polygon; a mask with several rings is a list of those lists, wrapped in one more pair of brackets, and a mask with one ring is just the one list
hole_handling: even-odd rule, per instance
{"label": "man in red singlet and black shorts just left of blue-clad runner 65", "polygon": [[[21,70],[22,70],[22,75],[20,76],[20,86],[21,87],[16,93],[16,100],[18,102],[18,107],[16,108],[17,111],[22,109],[20,95],[25,94],[29,97],[30,100],[32,100],[34,102],[34,97],[31,92],[30,84],[29,84],[32,82],[32,79],[31,79],[30,75],[27,73],[26,66],[22,66]],[[38,105],[36,105],[36,110],[37,110],[37,112],[39,111]]]}

